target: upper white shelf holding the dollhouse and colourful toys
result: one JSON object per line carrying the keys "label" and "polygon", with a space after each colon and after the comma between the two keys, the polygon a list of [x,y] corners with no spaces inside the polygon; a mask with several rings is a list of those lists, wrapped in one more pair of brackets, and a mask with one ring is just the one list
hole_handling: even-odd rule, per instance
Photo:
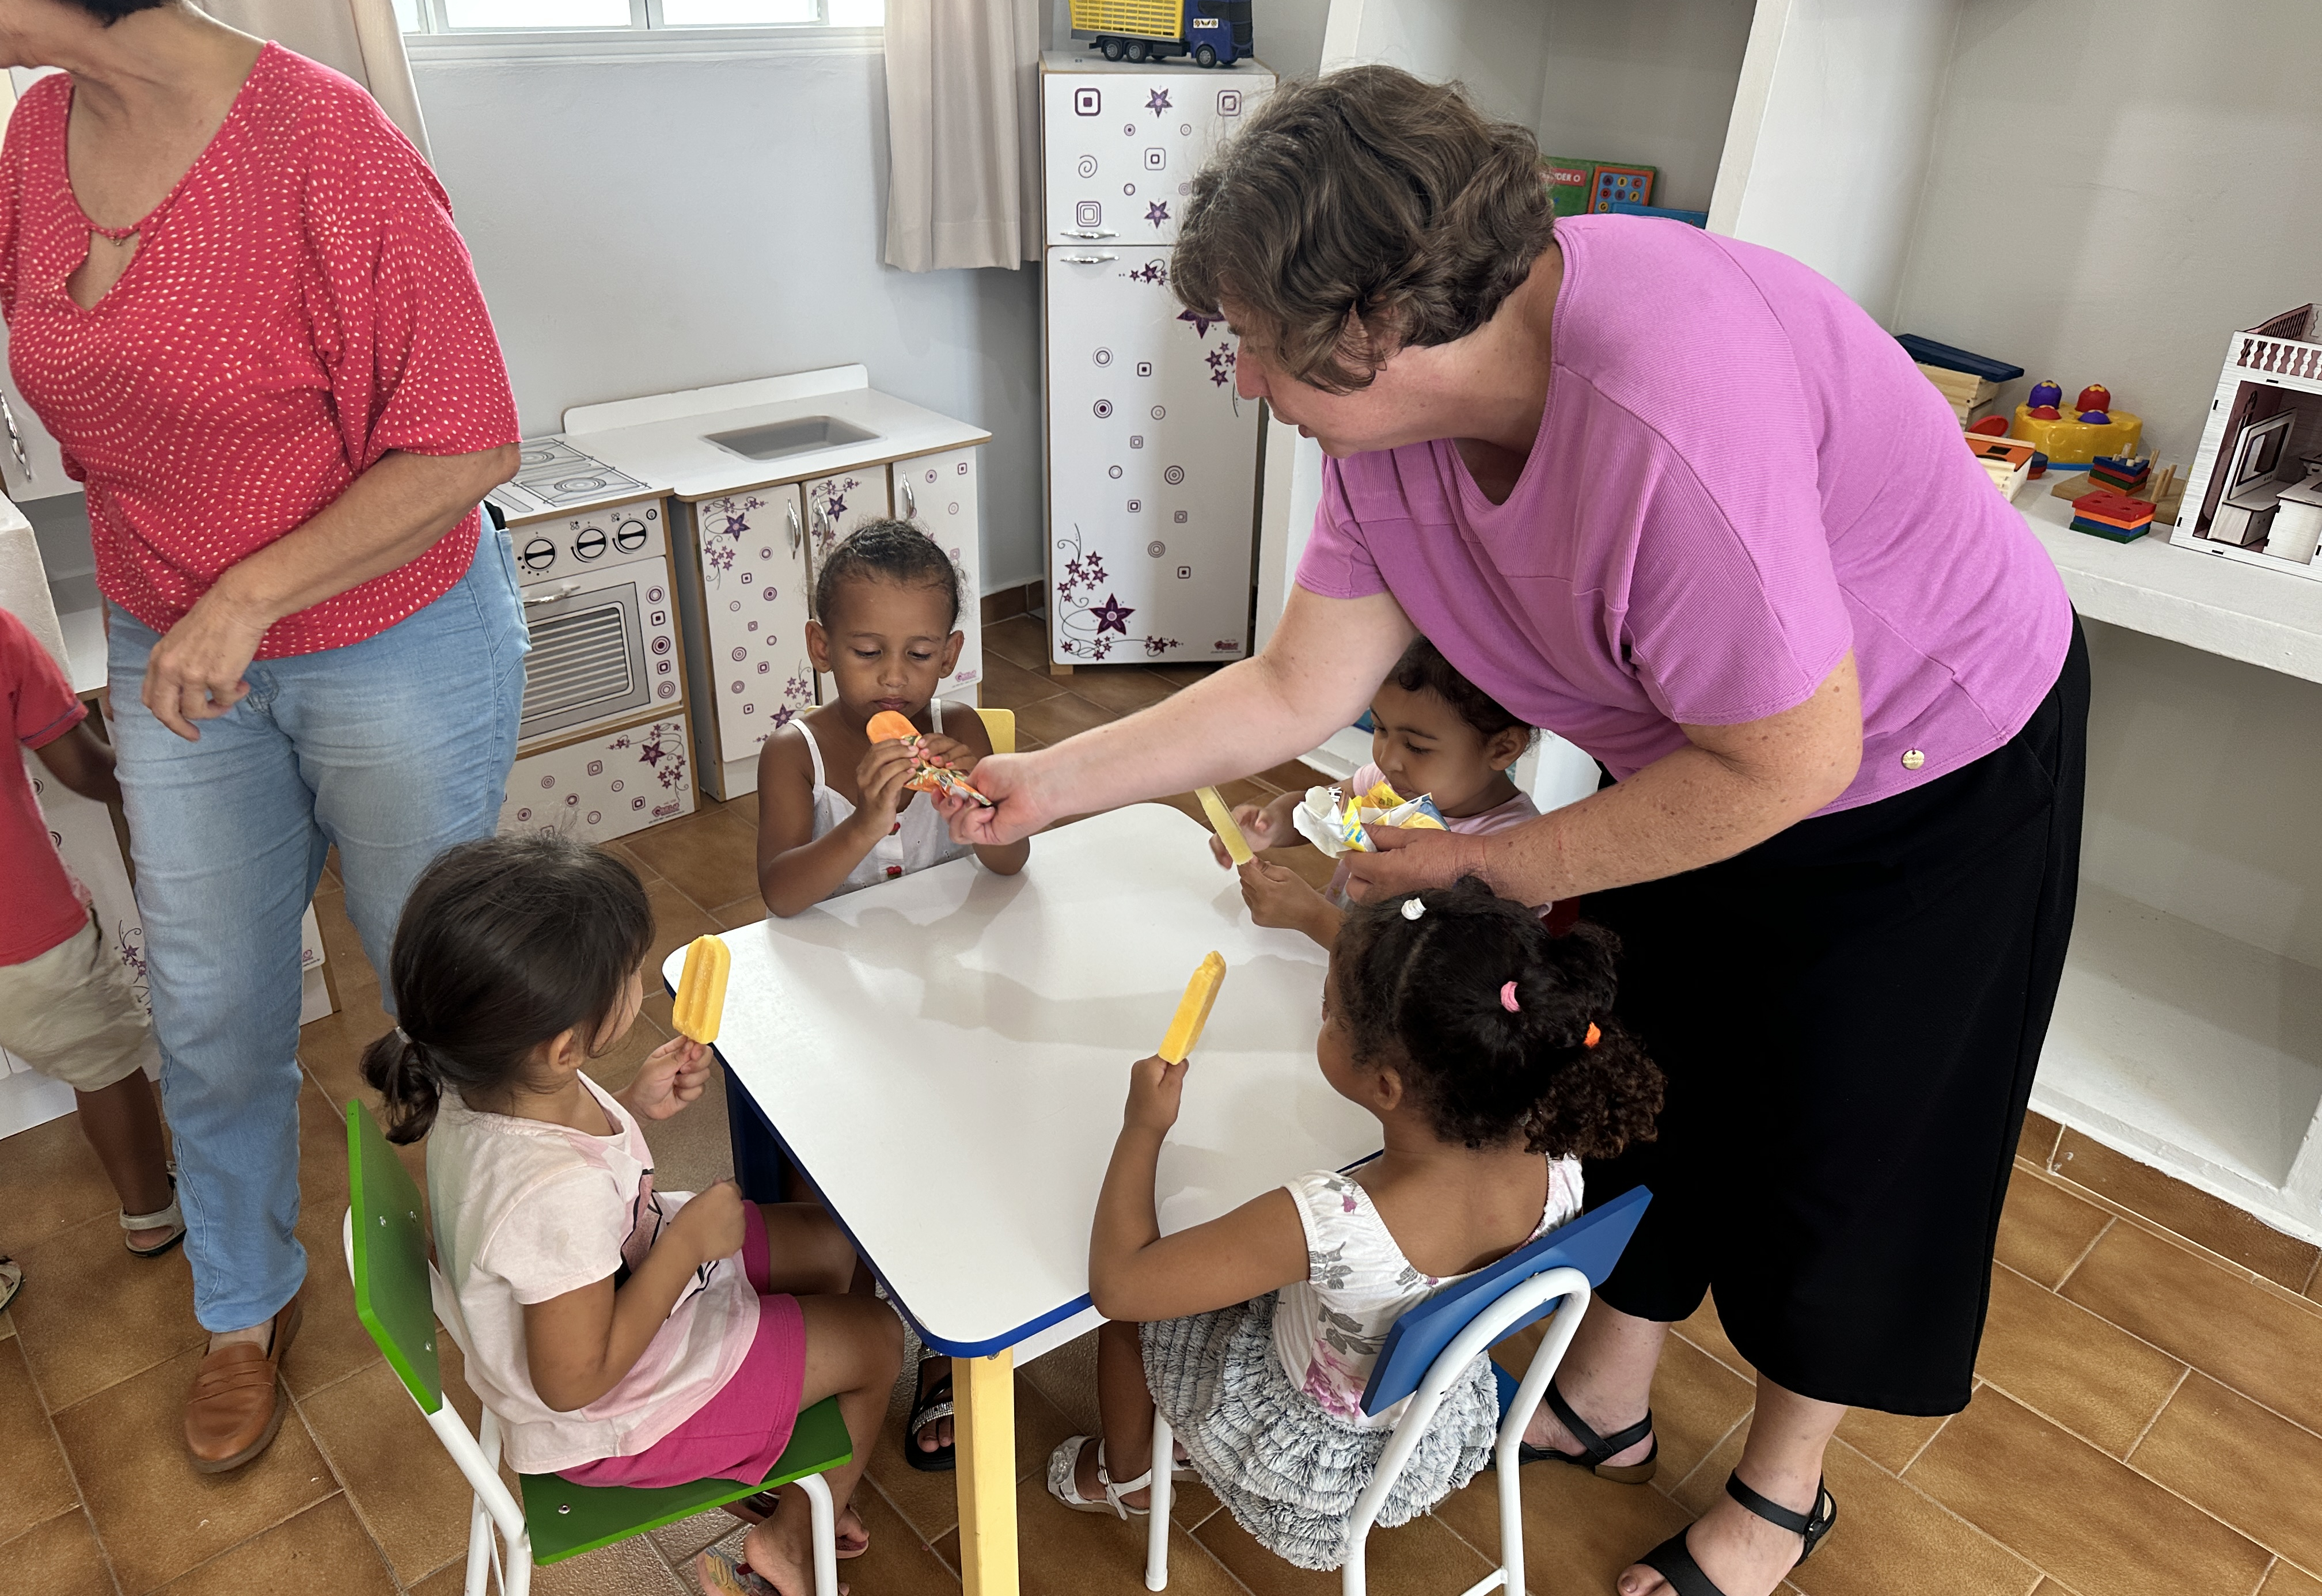
{"label": "upper white shelf holding the dollhouse and colourful toys", "polygon": [[2050,478],[2027,483],[2015,508],[2081,615],[2322,682],[2322,582],[2164,543],[2159,529],[2136,543],[2074,531]]}

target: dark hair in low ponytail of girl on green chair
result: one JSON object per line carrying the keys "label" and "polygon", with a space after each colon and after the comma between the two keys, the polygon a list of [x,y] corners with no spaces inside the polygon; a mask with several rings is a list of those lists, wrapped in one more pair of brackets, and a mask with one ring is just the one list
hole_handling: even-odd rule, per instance
{"label": "dark hair in low ponytail of girl on green chair", "polygon": [[418,1141],[444,1088],[490,1097],[532,1049],[620,1011],[652,946],[652,905],[627,863],[555,833],[437,854],[404,900],[388,984],[402,1021],[362,1049],[388,1141]]}

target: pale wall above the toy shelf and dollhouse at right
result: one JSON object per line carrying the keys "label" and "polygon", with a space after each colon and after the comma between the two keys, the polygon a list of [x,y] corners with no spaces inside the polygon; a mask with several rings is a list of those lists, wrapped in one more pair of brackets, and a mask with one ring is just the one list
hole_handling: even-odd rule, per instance
{"label": "pale wall above the toy shelf and dollhouse at right", "polygon": [[1897,332],[2190,464],[2227,334],[2322,297],[2317,51],[2313,0],[1967,0]]}

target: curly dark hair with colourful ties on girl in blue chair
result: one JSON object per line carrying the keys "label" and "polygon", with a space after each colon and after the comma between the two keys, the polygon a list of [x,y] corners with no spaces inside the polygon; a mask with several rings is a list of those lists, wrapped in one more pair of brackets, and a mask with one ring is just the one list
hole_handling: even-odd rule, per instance
{"label": "curly dark hair with colourful ties on girl in blue chair", "polygon": [[1349,909],[1333,1002],[1356,1062],[1402,1069],[1444,1141],[1614,1158],[1653,1139],[1663,1093],[1660,1065],[1611,1016],[1618,951],[1602,926],[1551,937],[1533,909],[1463,877]]}

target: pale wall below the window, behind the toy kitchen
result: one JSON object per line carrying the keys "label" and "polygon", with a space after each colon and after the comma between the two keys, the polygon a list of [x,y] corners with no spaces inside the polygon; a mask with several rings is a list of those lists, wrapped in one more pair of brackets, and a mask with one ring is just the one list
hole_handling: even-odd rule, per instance
{"label": "pale wall below the window, behind the toy kitchen", "polygon": [[878,53],[420,60],[525,431],[574,404],[859,360],[989,427],[985,587],[1040,575],[1038,267],[880,264]]}

